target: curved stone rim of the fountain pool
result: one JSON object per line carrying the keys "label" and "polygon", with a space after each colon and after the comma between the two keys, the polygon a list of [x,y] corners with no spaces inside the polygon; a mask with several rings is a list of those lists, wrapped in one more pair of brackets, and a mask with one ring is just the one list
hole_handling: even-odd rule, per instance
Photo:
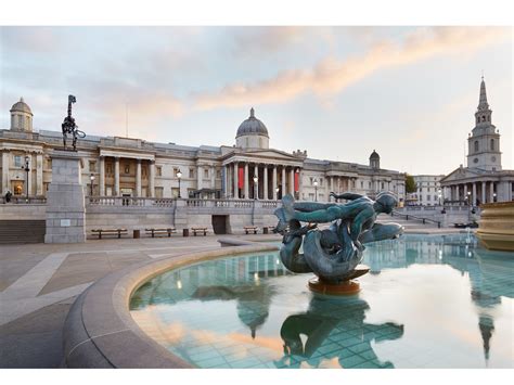
{"label": "curved stone rim of the fountain pool", "polygon": [[250,241],[218,240],[221,246],[164,257],[107,274],[80,294],[64,323],[66,368],[194,368],[152,339],[130,316],[133,293],[152,278],[192,264],[248,253],[277,252],[278,246]]}

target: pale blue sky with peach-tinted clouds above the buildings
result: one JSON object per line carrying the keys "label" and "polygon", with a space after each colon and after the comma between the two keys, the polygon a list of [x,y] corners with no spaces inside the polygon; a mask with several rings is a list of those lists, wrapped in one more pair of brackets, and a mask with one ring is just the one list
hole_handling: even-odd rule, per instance
{"label": "pale blue sky with peach-tinted clouds above the buildings", "polygon": [[484,75],[513,162],[511,27],[0,27],[0,128],[232,145],[249,108],[270,147],[413,175],[465,165]]}

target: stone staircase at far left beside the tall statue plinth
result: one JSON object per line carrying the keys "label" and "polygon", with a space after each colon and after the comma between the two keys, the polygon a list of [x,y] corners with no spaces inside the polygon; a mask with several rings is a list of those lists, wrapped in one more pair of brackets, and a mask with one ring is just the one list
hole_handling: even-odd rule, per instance
{"label": "stone staircase at far left beside the tall statue plinth", "polygon": [[43,243],[46,220],[0,220],[0,244]]}

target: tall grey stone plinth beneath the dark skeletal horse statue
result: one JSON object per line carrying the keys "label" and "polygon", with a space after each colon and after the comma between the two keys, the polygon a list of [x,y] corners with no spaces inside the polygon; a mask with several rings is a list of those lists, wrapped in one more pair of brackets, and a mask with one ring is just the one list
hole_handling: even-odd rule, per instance
{"label": "tall grey stone plinth beneath the dark skeletal horse statue", "polygon": [[72,151],[54,151],[51,157],[52,182],[47,192],[44,243],[86,242],[80,156]]}

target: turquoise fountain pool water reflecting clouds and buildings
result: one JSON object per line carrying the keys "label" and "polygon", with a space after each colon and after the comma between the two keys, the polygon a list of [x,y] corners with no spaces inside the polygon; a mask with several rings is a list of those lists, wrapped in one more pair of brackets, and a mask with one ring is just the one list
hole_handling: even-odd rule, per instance
{"label": "turquoise fountain pool water reflecting clouds and buildings", "polygon": [[138,324],[198,368],[513,368],[514,254],[465,235],[367,246],[361,292],[313,295],[277,253],[170,271],[140,287]]}

